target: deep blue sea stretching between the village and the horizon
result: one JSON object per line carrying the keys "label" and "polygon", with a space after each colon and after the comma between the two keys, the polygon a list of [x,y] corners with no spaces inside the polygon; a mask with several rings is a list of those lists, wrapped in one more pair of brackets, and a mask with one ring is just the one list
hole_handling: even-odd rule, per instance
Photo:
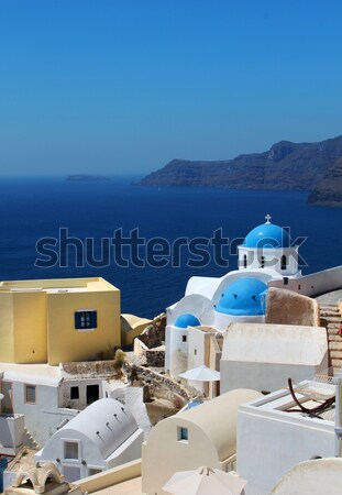
{"label": "deep blue sea stretching between the village and the horizon", "polygon": [[342,209],[310,206],[306,191],[137,179],[1,178],[0,279],[101,276],[120,288],[122,312],[152,318],[184,296],[190,276],[235,270],[236,246],[266,215],[290,229],[304,273],[342,264]]}

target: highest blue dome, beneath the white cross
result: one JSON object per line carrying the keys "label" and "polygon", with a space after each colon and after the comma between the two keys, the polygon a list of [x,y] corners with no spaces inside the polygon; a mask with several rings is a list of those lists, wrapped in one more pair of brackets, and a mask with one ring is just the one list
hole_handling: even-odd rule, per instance
{"label": "highest blue dome, beneath the white cross", "polygon": [[267,222],[251,230],[246,235],[243,245],[245,248],[260,249],[289,248],[290,238],[288,232],[282,227]]}

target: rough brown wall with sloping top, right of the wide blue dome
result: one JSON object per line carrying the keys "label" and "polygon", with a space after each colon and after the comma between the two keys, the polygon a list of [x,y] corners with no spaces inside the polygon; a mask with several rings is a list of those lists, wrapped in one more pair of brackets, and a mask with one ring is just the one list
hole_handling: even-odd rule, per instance
{"label": "rough brown wall with sloping top, right of the wide blue dome", "polygon": [[319,327],[319,305],[310,297],[269,287],[266,296],[266,323]]}

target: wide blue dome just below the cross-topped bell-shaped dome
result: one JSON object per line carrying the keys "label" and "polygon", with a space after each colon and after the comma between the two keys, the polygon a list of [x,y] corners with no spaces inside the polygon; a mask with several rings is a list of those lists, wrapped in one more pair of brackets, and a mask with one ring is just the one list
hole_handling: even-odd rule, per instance
{"label": "wide blue dome just below the cross-topped bell-shaped dome", "polygon": [[229,285],[216,308],[234,316],[265,315],[267,285],[258,278],[239,278]]}

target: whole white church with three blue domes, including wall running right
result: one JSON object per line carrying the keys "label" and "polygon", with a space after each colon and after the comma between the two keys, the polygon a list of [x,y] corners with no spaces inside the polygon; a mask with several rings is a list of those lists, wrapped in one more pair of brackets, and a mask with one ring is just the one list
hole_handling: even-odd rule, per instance
{"label": "whole white church with three blue domes, including wall running right", "polygon": [[298,245],[291,244],[286,229],[271,222],[269,215],[239,245],[239,270],[220,278],[191,277],[185,296],[167,308],[165,370],[173,376],[187,367],[184,360],[191,329],[220,333],[233,322],[265,322],[268,287],[305,296],[342,287],[342,266],[302,276]]}

